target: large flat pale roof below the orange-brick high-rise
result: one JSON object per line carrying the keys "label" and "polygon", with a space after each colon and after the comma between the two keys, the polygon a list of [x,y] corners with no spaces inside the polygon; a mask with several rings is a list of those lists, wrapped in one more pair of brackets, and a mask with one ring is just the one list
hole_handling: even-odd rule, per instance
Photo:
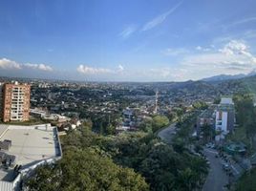
{"label": "large flat pale roof below the orange-brick high-rise", "polygon": [[[0,124],[5,128],[0,140],[11,140],[11,148],[4,151],[6,154],[16,157],[15,164],[22,165],[22,169],[28,168],[43,159],[59,157],[60,146],[57,138],[56,127],[46,125],[18,126]],[[12,169],[5,170],[0,168],[0,180],[11,180],[10,172]]]}

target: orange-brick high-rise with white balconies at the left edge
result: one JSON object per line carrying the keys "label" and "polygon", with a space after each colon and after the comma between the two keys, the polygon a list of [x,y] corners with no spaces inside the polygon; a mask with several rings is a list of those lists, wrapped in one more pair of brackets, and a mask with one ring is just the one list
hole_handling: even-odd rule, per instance
{"label": "orange-brick high-rise with white balconies at the left edge", "polygon": [[30,118],[31,86],[18,82],[6,83],[2,90],[2,119],[26,121]]}

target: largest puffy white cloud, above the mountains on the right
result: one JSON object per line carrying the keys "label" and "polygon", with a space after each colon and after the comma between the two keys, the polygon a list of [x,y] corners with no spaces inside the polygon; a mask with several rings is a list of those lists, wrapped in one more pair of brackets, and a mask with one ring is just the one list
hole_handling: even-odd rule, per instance
{"label": "largest puffy white cloud, above the mountains on the right", "polygon": [[256,57],[245,42],[231,40],[218,51],[185,56],[181,63],[190,77],[200,78],[202,75],[249,73],[256,67]]}

